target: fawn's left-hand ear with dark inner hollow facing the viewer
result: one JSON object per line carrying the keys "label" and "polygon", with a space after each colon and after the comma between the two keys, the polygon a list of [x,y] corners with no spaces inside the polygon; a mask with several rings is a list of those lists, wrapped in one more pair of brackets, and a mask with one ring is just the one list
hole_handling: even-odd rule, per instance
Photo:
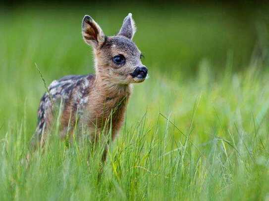
{"label": "fawn's left-hand ear with dark inner hollow facing the viewer", "polygon": [[104,32],[89,15],[85,15],[82,20],[82,36],[87,44],[94,47],[101,46],[105,42]]}

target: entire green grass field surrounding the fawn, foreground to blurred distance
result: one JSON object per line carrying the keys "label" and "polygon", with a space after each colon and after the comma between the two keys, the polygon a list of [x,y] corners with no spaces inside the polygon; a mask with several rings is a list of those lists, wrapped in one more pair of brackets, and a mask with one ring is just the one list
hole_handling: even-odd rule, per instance
{"label": "entire green grass field surrounding the fawn, foreground to blurred distance", "polygon": [[[109,10],[109,12],[108,12]],[[0,12],[0,200],[269,200],[266,8],[16,8]],[[133,12],[150,78],[136,84],[98,180],[101,146],[52,133],[25,158],[44,84],[93,73],[81,37]],[[247,14],[246,14],[247,12]],[[36,65],[35,65],[36,64]]]}

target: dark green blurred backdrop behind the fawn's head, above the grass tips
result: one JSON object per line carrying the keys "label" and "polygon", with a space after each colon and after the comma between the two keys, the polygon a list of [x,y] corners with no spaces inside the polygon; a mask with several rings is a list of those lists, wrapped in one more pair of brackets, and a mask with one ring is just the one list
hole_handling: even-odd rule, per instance
{"label": "dark green blurred backdrop behind the fawn's head, above the grass tips", "polygon": [[[50,68],[77,73],[75,66],[92,64],[89,48],[81,40],[83,16],[91,15],[107,35],[114,35],[123,18],[132,12],[138,28],[134,40],[144,52],[145,62],[153,66],[158,61],[162,72],[189,76],[204,58],[215,71],[223,70],[228,53],[234,57],[234,70],[245,68],[253,53],[261,54],[268,45],[268,11],[268,4],[262,1],[10,0],[0,14],[1,40],[12,41],[7,51],[16,51],[24,61],[31,50],[33,62],[46,66],[44,73]],[[6,45],[4,41],[1,44]],[[58,55],[59,49],[65,51]],[[66,57],[63,61],[68,62],[55,66],[50,64],[52,57]],[[84,70],[87,73],[90,69]]]}

